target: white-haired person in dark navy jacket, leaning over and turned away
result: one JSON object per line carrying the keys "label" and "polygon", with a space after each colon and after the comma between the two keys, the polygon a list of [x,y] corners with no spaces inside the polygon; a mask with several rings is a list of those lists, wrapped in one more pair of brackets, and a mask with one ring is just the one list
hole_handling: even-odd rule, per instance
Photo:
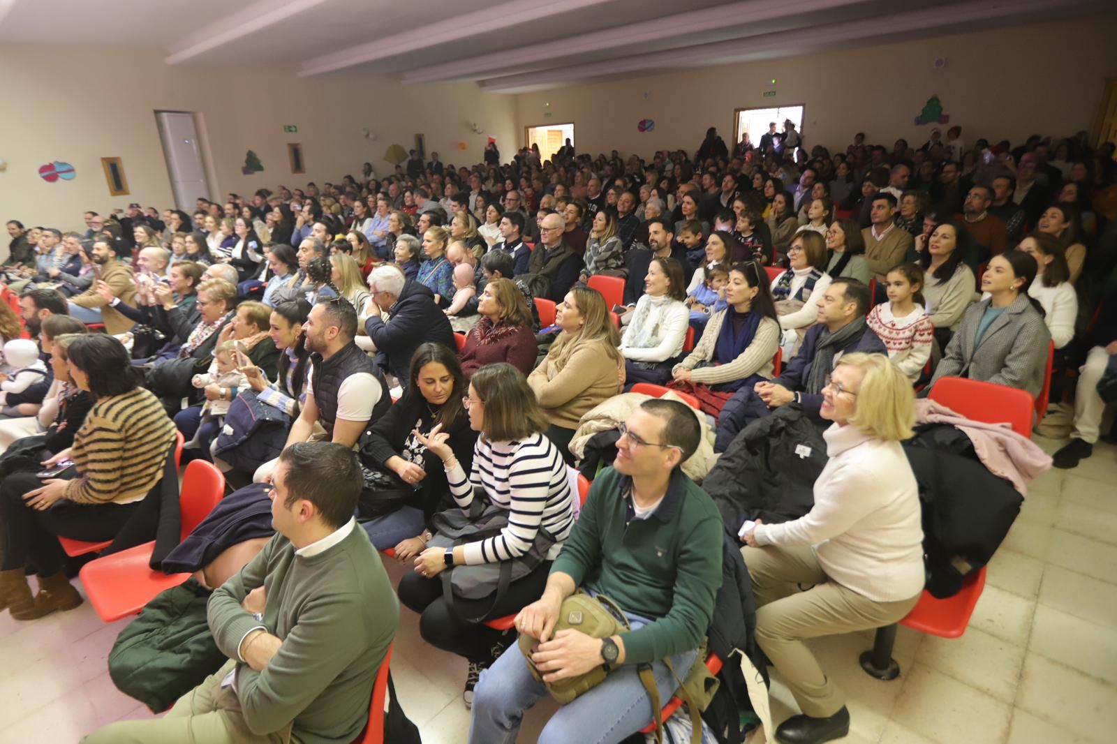
{"label": "white-haired person in dark navy jacket, leaning over and turned away", "polygon": [[[399,241],[397,241],[399,247]],[[435,304],[435,293],[409,279],[398,266],[378,266],[369,274],[369,318],[364,322],[380,368],[407,387],[411,356],[427,342],[457,352],[450,319]],[[364,344],[362,344],[364,345]]]}

